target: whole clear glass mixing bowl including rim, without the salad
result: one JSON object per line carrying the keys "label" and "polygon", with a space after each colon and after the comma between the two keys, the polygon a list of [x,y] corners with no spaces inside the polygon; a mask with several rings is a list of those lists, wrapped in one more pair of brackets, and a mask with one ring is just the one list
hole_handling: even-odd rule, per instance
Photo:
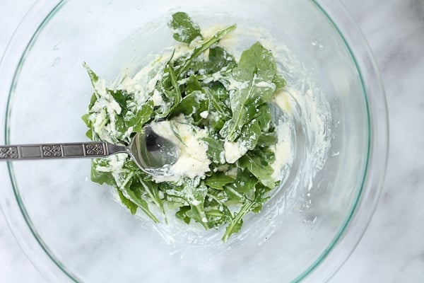
{"label": "whole clear glass mixing bowl including rim, without the salad", "polygon": [[246,220],[247,231],[264,233],[170,243],[90,182],[88,160],[1,163],[0,204],[14,236],[50,282],[326,281],[363,235],[387,161],[382,84],[360,31],[334,0],[37,2],[1,62],[5,144],[86,140],[80,117],[91,86],[82,62],[106,79],[142,66],[172,45],[173,11],[202,26],[263,28],[298,59],[329,106],[331,141],[319,172],[305,173],[314,156],[300,128],[290,190]]}

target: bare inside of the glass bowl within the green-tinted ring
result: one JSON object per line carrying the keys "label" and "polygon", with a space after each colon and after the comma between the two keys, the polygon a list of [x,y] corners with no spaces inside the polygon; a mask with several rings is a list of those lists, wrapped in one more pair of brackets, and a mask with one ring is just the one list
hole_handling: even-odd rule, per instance
{"label": "bare inside of the glass bowl within the green-tinted ring", "polygon": [[[360,196],[370,141],[367,99],[353,54],[312,1],[61,2],[16,70],[6,141],[86,140],[80,117],[92,91],[82,63],[110,81],[136,71],[175,45],[167,28],[174,11],[186,11],[201,26],[237,23],[242,31],[266,30],[241,31],[237,44],[246,48],[271,38],[298,96],[325,105],[326,115],[307,126],[321,135],[308,136],[307,127],[295,133],[297,153],[286,185],[261,214],[247,218],[247,232],[229,243],[220,242],[219,231],[187,234],[178,224],[153,226],[131,216],[110,188],[90,182],[90,161],[83,159],[9,166],[20,209],[51,260],[78,282],[302,279],[345,231]],[[317,151],[320,137],[328,144],[324,153]]]}

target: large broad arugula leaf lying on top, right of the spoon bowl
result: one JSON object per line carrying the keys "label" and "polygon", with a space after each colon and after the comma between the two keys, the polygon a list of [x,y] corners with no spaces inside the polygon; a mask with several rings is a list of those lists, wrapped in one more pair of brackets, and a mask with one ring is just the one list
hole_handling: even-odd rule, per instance
{"label": "large broad arugula leaf lying on top, right of the spoon bowl", "polygon": [[220,131],[223,137],[235,141],[240,136],[242,127],[254,118],[259,106],[276,91],[275,76],[273,56],[259,42],[242,52],[239,66],[232,69],[235,81],[230,84],[232,118]]}

